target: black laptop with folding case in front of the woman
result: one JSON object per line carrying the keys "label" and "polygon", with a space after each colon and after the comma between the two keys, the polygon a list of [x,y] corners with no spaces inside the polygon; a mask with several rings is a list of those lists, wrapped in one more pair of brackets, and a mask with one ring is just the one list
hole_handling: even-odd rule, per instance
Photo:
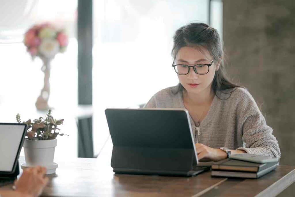
{"label": "black laptop with folding case in front of the woman", "polygon": [[105,114],[115,173],[194,176],[210,169],[198,166],[186,109],[107,108]]}

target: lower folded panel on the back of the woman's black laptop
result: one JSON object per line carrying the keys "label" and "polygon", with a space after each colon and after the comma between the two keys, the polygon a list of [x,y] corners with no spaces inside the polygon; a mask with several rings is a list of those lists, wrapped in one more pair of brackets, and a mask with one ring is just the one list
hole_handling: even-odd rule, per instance
{"label": "lower folded panel on the back of the woman's black laptop", "polygon": [[189,171],[193,154],[190,149],[113,146],[114,168],[155,171]]}

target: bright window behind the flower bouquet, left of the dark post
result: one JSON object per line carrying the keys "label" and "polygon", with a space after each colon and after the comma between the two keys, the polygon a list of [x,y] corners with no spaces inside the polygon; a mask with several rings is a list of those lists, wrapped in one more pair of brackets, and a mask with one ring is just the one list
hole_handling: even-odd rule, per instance
{"label": "bright window behind the flower bouquet, left of the dark post", "polygon": [[[69,35],[67,51],[64,54],[57,54],[51,62],[49,105],[54,108],[59,108],[62,105],[76,106],[78,103],[78,44],[75,37],[78,1],[39,0],[34,2],[37,2],[37,4],[35,4],[32,9],[32,18],[30,18],[30,22],[25,21],[27,26],[23,27],[23,31],[26,31],[35,23],[53,21],[55,25],[65,27]],[[5,5],[6,4],[4,4],[4,6]],[[22,10],[24,9],[22,6],[23,4],[21,3],[14,3],[13,10]],[[5,7],[2,7],[2,9],[5,9]],[[15,12],[11,10],[10,13],[15,15]],[[4,14],[6,15],[2,18],[7,17],[9,13]],[[20,23],[21,22],[22,21],[20,21]],[[22,34],[23,33],[24,32],[22,32]],[[42,61],[40,58],[36,58],[32,61],[29,53],[26,52],[26,47],[20,42],[23,38],[17,40],[19,43],[0,44],[0,110],[1,121],[5,122],[15,122],[16,113],[20,113],[20,115],[27,113],[19,111],[19,109],[24,106],[34,111],[35,101],[43,87],[44,74],[41,71]],[[58,116],[58,114],[56,114],[56,116]],[[38,117],[27,117],[23,115],[21,118],[22,121],[27,121],[29,118]],[[67,123],[66,125],[70,124]],[[63,127],[61,127],[62,131],[70,135],[71,133],[77,135],[75,121],[71,123],[71,125],[73,126],[70,128],[65,126],[65,130],[67,131],[63,130]],[[71,128],[74,130],[71,130]],[[69,143],[77,143],[73,135],[71,135],[71,138],[59,137],[56,155],[64,154]],[[72,144],[70,146],[72,146]],[[72,147],[77,146],[73,145]],[[59,149],[63,151],[58,151]],[[67,156],[76,157],[77,150],[68,151],[67,153]],[[24,155],[23,152],[21,152],[21,155]]]}

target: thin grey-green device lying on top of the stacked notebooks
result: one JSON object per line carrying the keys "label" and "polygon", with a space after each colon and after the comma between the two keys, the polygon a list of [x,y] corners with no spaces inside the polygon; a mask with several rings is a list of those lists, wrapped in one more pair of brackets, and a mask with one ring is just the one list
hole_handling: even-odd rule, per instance
{"label": "thin grey-green device lying on top of the stacked notebooks", "polygon": [[268,157],[268,156],[249,154],[249,153],[231,154],[229,158],[248,161],[248,162],[254,162],[254,163],[277,162],[279,159],[278,157]]}

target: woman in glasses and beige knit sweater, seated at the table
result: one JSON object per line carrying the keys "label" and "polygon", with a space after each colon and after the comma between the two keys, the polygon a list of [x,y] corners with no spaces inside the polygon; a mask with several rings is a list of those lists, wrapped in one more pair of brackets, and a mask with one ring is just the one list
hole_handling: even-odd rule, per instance
{"label": "woman in glasses and beige knit sweater, seated at the table", "polygon": [[224,74],[217,30],[191,23],[179,28],[173,41],[172,66],[180,83],[156,93],[145,108],[186,108],[202,162],[245,152],[280,157],[273,129],[253,97]]}

